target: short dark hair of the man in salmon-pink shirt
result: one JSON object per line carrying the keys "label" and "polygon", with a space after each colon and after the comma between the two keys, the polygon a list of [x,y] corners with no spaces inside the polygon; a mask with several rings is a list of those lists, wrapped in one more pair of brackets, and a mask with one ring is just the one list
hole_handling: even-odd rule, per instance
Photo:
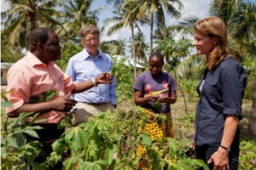
{"label": "short dark hair of the man in salmon-pink shirt", "polygon": [[29,37],[30,51],[33,51],[36,48],[38,42],[47,42],[49,38],[49,32],[54,31],[47,27],[39,27],[33,30]]}

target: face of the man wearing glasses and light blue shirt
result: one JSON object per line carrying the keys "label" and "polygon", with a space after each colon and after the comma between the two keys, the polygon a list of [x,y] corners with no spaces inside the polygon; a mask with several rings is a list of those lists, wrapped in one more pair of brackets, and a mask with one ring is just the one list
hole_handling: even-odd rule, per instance
{"label": "face of the man wearing glasses and light blue shirt", "polygon": [[88,51],[88,53],[96,53],[100,44],[100,37],[96,34],[86,34],[82,38],[82,43]]}

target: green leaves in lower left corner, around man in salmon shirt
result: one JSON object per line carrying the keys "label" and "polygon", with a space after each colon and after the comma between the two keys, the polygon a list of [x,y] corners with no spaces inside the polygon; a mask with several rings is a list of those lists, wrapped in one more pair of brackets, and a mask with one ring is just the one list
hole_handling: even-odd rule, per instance
{"label": "green leaves in lower left corner, around man in salmon shirt", "polygon": [[[1,94],[1,105],[4,107],[12,107],[13,105],[8,101],[5,94],[9,92],[3,92]],[[55,90],[49,90],[44,93],[43,101],[48,101],[57,93]],[[42,102],[40,99],[30,99],[32,103]],[[26,135],[38,139],[38,133],[36,130],[43,127],[32,126],[34,123],[44,122],[44,119],[35,119],[39,113],[23,112],[20,113],[17,119],[7,118],[3,122],[1,127],[1,167],[3,169],[20,169],[21,167],[33,169],[45,169],[47,167],[43,164],[34,162],[34,159],[40,153],[40,147],[42,144],[37,140],[26,141]],[[19,144],[18,144],[19,142]]]}

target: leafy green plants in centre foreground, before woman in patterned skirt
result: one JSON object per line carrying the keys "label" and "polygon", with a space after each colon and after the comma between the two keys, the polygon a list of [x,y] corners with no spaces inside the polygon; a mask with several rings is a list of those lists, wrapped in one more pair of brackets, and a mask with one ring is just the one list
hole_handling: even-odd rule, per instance
{"label": "leafy green plants in centre foreground, before woman in patterned skirt", "polygon": [[[60,139],[53,144],[54,152],[47,164],[60,160],[66,148],[71,155],[63,162],[64,169],[137,169],[141,156],[136,154],[137,144],[147,150],[146,158],[153,163],[154,170],[195,169],[207,165],[184,155],[185,145],[176,139],[159,139],[153,143],[147,133],[137,133],[141,120],[140,108],[134,111],[111,113],[88,117],[87,122],[67,128]],[[165,150],[165,156],[162,152]]]}

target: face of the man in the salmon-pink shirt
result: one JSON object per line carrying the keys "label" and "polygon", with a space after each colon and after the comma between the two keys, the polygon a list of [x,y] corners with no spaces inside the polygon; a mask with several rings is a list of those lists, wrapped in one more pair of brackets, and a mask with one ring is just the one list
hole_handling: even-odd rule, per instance
{"label": "face of the man in the salmon-pink shirt", "polygon": [[55,32],[49,32],[49,38],[44,46],[44,58],[47,61],[55,61],[61,58],[60,39]]}

